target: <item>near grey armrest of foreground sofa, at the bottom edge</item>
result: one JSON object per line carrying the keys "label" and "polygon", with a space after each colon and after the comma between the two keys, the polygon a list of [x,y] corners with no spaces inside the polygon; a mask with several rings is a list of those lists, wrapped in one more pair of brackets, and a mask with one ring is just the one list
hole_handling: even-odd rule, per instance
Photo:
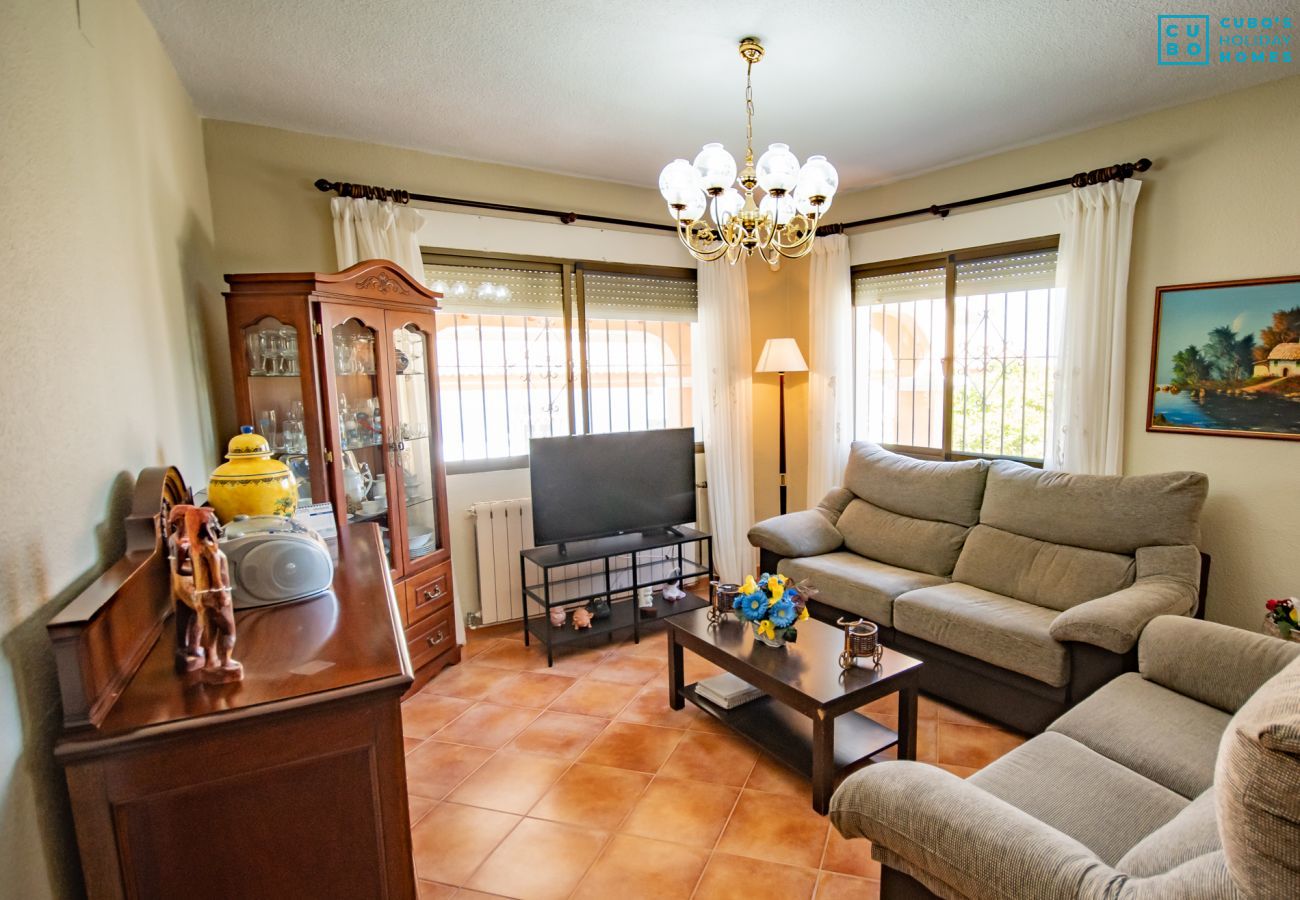
{"label": "near grey armrest of foreground sofa, at the bottom edge", "polygon": [[854,773],[831,799],[831,822],[968,897],[1101,896],[1118,875],[1074,838],[920,762]]}

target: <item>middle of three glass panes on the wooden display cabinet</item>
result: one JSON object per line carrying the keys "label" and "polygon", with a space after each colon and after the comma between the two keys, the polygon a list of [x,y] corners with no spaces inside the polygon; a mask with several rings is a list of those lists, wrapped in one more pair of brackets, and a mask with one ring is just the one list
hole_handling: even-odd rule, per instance
{"label": "middle of three glass panes on the wooden display cabinet", "polygon": [[339,447],[335,505],[341,512],[346,509],[350,523],[378,523],[390,566],[395,570],[398,557],[393,554],[393,544],[396,537],[389,510],[389,447],[381,399],[382,368],[378,365],[384,334],[359,316],[347,316],[326,333],[329,338],[322,350],[329,354],[334,407],[330,425],[334,446]]}

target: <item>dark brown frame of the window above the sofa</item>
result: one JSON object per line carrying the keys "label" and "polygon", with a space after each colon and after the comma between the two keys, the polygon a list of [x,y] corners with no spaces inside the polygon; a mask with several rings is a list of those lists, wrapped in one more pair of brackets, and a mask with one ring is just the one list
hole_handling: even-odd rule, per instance
{"label": "dark brown frame of the window above the sofa", "polygon": [[[957,359],[957,264],[979,259],[992,259],[996,256],[1010,256],[1014,254],[1028,254],[1040,250],[1060,250],[1060,234],[1044,234],[1036,238],[1022,241],[1004,241],[1000,243],[987,243],[979,247],[963,247],[939,254],[923,254],[920,256],[905,256],[902,259],[881,260],[879,263],[861,263],[849,269],[849,303],[854,307],[852,284],[862,276],[904,274],[922,269],[944,269],[944,358],[941,363],[944,373],[944,427],[940,447],[918,447],[906,443],[881,443],[880,446],[893,453],[915,459],[933,459],[940,462],[961,462],[967,459],[1010,459],[1024,463],[1035,468],[1043,468],[1041,459],[1027,457],[1014,457],[996,453],[970,453],[966,450],[953,450],[953,371]],[[854,388],[854,434],[857,434],[857,389],[858,389],[858,329],[853,328],[853,388]]]}

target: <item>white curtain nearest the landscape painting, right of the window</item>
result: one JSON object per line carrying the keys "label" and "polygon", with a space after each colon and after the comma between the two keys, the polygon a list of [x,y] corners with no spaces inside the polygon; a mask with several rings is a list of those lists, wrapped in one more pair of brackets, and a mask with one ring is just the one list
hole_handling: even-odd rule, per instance
{"label": "white curtain nearest the landscape painting, right of the window", "polygon": [[1119,475],[1124,329],[1134,208],[1141,182],[1108,181],[1061,198],[1057,286],[1065,289],[1046,468]]}

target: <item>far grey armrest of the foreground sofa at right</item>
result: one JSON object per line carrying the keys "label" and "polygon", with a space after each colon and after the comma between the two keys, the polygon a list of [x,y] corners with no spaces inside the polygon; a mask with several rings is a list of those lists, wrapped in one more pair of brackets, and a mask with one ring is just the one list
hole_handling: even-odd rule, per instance
{"label": "far grey armrest of the foreground sofa at right", "polygon": [[1138,644],[1143,678],[1225,713],[1236,713],[1296,657],[1295,641],[1180,616],[1156,619]]}

